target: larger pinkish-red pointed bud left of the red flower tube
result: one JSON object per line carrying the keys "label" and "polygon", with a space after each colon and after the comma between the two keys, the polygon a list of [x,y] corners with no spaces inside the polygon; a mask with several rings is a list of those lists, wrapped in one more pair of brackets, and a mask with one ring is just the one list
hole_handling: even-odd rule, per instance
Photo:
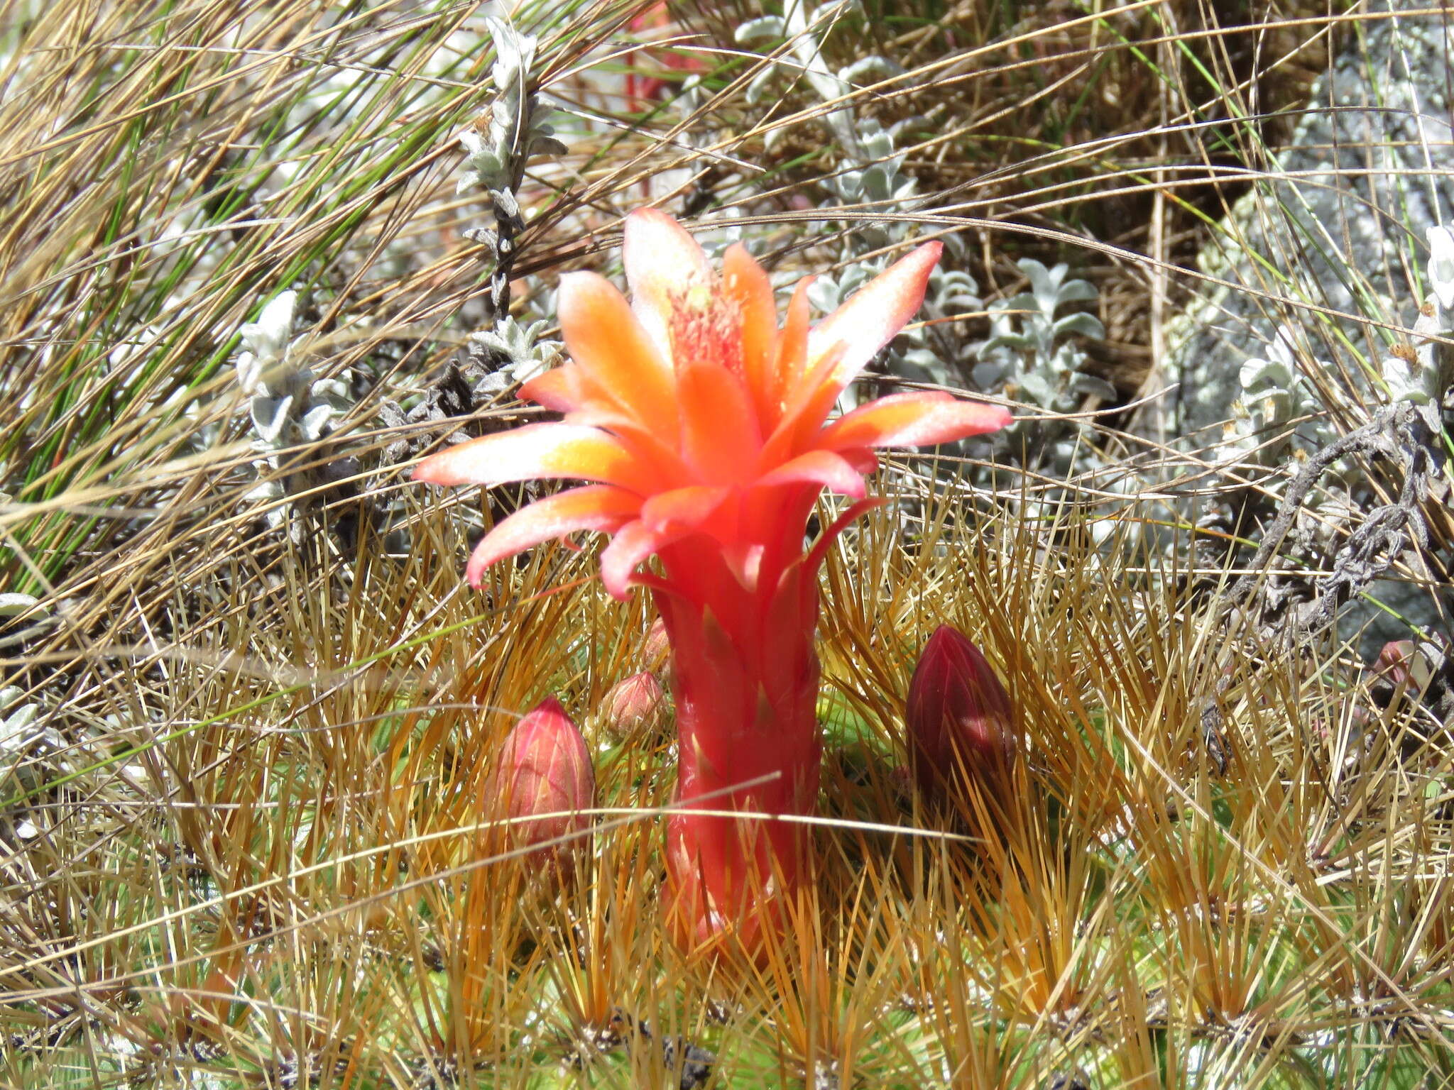
{"label": "larger pinkish-red pointed bud left of the red flower tube", "polygon": [[[554,696],[541,701],[505,740],[494,794],[503,812],[516,820],[510,825],[516,847],[590,827],[590,815],[580,811],[595,805],[596,773],[586,740]],[[519,821],[535,814],[548,817]],[[554,849],[539,855],[554,855]]]}

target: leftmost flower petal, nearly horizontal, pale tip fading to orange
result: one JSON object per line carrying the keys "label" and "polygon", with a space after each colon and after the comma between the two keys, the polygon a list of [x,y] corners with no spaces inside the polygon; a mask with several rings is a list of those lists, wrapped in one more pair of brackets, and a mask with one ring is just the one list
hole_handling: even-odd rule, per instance
{"label": "leftmost flower petal, nearly horizontal, pale tip fading to orange", "polygon": [[416,465],[413,477],[429,484],[481,485],[573,478],[615,484],[644,496],[654,491],[659,474],[599,429],[545,423],[451,446]]}

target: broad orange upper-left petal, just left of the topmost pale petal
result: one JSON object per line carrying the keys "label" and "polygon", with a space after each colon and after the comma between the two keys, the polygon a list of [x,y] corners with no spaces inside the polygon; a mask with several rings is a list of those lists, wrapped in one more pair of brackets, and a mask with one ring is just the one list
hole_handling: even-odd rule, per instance
{"label": "broad orange upper-left petal, just left of the topmost pale petal", "polygon": [[[694,243],[695,246],[695,243]],[[576,365],[644,426],[676,435],[676,382],[621,292],[590,272],[560,278],[560,330]]]}

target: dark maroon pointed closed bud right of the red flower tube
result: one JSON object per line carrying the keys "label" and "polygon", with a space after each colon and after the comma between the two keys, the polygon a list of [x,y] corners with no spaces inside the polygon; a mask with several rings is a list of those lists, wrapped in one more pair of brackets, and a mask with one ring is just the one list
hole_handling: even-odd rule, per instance
{"label": "dark maroon pointed closed bud right of the red flower tube", "polygon": [[968,775],[1002,775],[1015,760],[1009,693],[980,650],[949,625],[925,644],[904,725],[909,762],[925,792],[936,792],[963,767]]}

